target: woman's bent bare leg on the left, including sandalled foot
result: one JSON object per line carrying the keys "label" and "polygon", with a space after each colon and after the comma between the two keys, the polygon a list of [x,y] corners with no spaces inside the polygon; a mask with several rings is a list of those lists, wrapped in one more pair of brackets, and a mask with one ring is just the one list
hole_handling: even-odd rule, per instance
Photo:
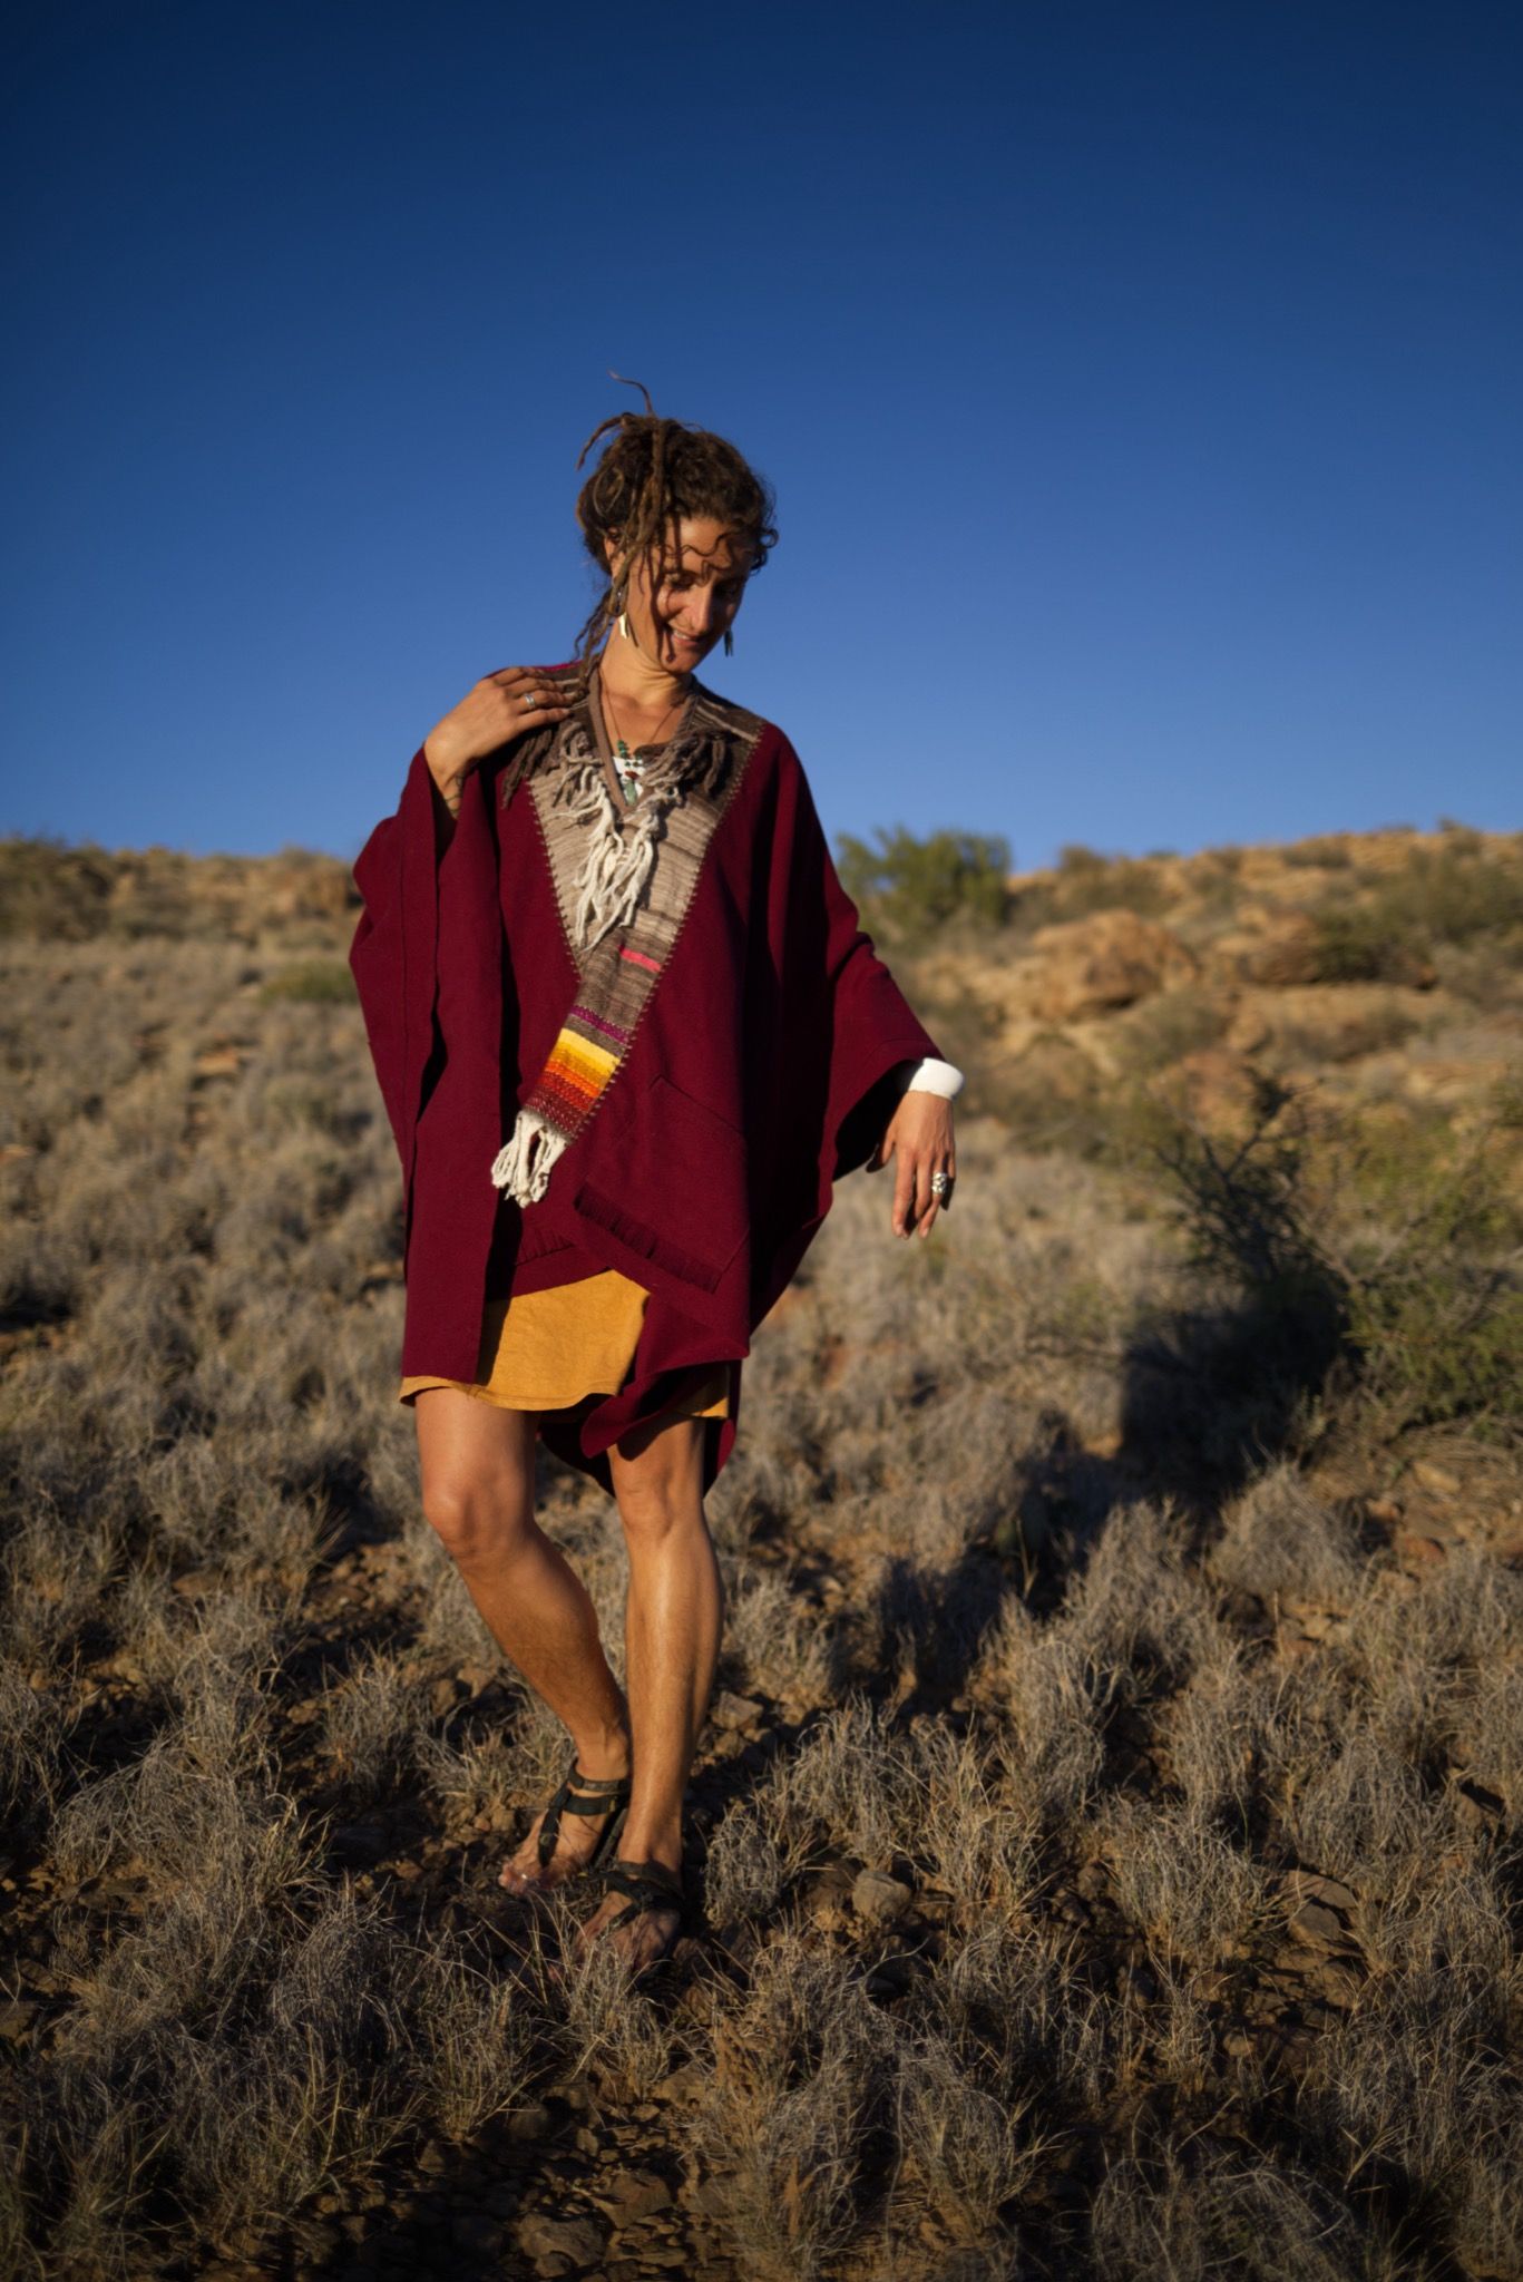
{"label": "woman's bent bare leg on the left, including sandalled foot", "polygon": [[[454,1559],[502,1654],[566,1723],[585,1775],[626,1775],[628,1707],[614,1680],[587,1586],[534,1520],[532,1410],[500,1410],[454,1387],[413,1403],[422,1460],[422,1511]],[[541,1871],[543,1814],[509,1858],[514,1892],[559,1885],[598,1844],[607,1816],[564,1814]]]}

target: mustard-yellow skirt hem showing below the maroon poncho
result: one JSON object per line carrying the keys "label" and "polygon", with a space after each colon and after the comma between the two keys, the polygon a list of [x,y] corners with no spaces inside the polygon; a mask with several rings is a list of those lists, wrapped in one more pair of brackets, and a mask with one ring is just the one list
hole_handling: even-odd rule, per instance
{"label": "mustard-yellow skirt hem showing below the maroon poncho", "polygon": [[[603,1269],[548,1292],[489,1301],[475,1381],[404,1378],[411,1403],[427,1387],[457,1387],[500,1410],[571,1410],[589,1394],[617,1394],[630,1376],[651,1294]],[[728,1362],[671,1406],[671,1417],[722,1419],[731,1410]],[[662,1413],[664,1417],[664,1413]]]}

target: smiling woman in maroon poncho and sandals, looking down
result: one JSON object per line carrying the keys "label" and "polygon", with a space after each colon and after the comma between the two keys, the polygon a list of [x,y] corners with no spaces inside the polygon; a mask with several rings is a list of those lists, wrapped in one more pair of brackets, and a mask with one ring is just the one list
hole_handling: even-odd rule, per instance
{"label": "smiling woman in maroon poncho and sandals, looking down", "polygon": [[[776,539],[767,488],[648,397],[587,452],[605,436],[580,655],[489,673],[429,730],[356,865],[352,968],[406,1182],[422,1506],[575,1743],[502,1885],[591,1874],[580,1940],[644,1967],[685,1917],[724,1620],[703,1492],[751,1330],[849,1168],[893,1162],[895,1235],[932,1232],[961,1075],[861,933],[788,739],[696,680]],[[619,1502],[628,1700],[534,1520],[537,1435]]]}

